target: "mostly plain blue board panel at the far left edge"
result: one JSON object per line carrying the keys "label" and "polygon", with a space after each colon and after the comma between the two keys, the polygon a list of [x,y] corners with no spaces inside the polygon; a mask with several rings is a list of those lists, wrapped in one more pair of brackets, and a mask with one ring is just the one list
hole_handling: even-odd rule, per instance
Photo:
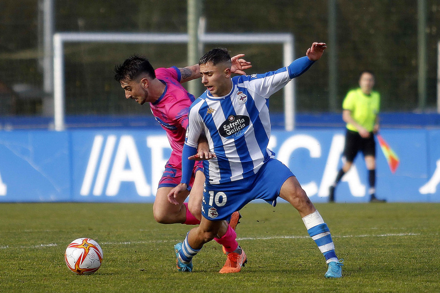
{"label": "mostly plain blue board panel at the far left edge", "polygon": [[68,134],[0,131],[0,201],[68,201]]}

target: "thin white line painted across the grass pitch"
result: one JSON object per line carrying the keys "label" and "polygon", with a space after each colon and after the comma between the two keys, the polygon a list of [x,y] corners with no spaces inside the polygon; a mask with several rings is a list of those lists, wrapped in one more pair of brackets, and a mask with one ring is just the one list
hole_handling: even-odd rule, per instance
{"label": "thin white line painted across the grass pitch", "polygon": [[[397,234],[378,234],[378,235],[345,235],[345,236],[331,236],[332,238],[355,238],[355,237],[400,237],[400,236],[418,236],[419,233],[397,233]],[[310,238],[309,236],[269,236],[269,237],[241,237],[237,238],[238,241],[241,240],[271,240],[271,239],[302,239],[302,238]],[[181,239],[179,239],[181,240]],[[175,243],[179,240],[150,240],[150,241],[124,241],[124,242],[102,242],[101,245],[131,245],[131,244],[147,244],[147,243]],[[40,244],[33,246],[18,246],[18,247],[10,247],[0,246],[1,249],[10,249],[10,248],[20,248],[20,249],[37,249],[37,248],[46,248],[46,247],[55,247],[59,246],[57,243],[49,243],[49,244]],[[63,244],[64,245],[64,244]]]}

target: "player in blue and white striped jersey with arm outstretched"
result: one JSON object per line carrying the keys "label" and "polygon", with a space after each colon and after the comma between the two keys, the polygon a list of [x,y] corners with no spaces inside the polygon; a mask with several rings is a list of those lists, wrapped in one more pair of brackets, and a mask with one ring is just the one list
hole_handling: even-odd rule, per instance
{"label": "player in blue and white striped jersey with arm outstretched", "polygon": [[[275,206],[278,197],[296,208],[324,254],[329,270],[326,277],[342,276],[342,260],[334,251],[330,230],[310,202],[296,177],[267,148],[270,138],[268,98],[291,79],[300,76],[326,49],[314,42],[306,56],[276,71],[231,78],[231,62],[226,49],[213,49],[199,61],[202,83],[207,90],[191,105],[186,141],[182,153],[182,180],[169,194],[170,202],[187,192],[197,153],[198,138],[205,134],[216,157],[203,162],[205,185],[200,226],[191,230],[183,243],[175,246],[178,268],[191,267],[192,258],[203,244],[227,234],[220,220],[242,209],[254,199]],[[227,255],[220,273],[240,272],[246,254],[238,244]],[[191,271],[188,270],[188,271]]]}

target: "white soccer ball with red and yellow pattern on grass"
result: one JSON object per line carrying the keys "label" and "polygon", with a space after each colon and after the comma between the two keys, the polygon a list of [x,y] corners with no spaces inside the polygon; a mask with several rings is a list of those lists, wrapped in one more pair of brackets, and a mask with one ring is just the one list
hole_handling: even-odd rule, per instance
{"label": "white soccer ball with red and yellow pattern on grass", "polygon": [[102,249],[90,238],[73,240],[66,248],[64,260],[70,271],[76,274],[92,274],[102,263]]}

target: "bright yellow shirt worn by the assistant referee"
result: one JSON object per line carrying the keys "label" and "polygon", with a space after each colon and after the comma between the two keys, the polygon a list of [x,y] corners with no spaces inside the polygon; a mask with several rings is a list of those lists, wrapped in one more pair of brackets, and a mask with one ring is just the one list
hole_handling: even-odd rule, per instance
{"label": "bright yellow shirt worn by the assistant referee", "polygon": [[[373,131],[376,116],[379,113],[380,94],[372,91],[366,95],[360,88],[352,89],[342,103],[344,110],[352,111],[352,118],[368,131]],[[347,128],[357,132],[356,127],[347,123]]]}

